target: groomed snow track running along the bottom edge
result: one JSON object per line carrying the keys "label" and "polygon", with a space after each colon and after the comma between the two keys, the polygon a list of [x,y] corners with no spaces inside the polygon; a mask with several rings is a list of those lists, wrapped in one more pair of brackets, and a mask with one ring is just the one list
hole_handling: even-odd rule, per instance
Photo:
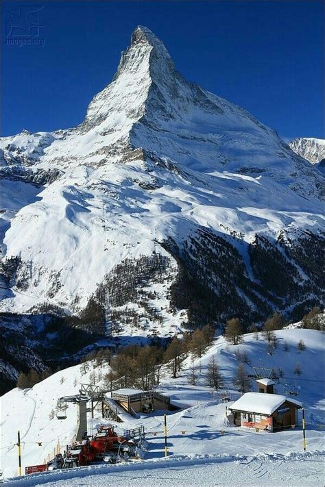
{"label": "groomed snow track running along the bottom edge", "polygon": [[63,486],[323,486],[324,454],[291,453],[255,457],[197,456],[115,466],[84,467],[5,482],[5,485]]}

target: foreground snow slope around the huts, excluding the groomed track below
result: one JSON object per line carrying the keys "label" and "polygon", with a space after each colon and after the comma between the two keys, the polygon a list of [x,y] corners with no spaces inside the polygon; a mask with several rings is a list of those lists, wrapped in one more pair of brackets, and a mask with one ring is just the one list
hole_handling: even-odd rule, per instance
{"label": "foreground snow slope around the huts, excluding the groomed track below", "polygon": [[[267,461],[267,455],[273,458],[290,457],[294,452],[302,451],[302,432],[300,428],[291,431],[268,434],[255,433],[253,430],[234,427],[225,419],[224,403],[220,398],[226,392],[234,401],[239,397],[239,392],[234,389],[233,377],[239,361],[235,351],[244,350],[248,354],[254,366],[265,368],[282,368],[285,378],[276,382],[276,392],[283,394],[285,384],[296,386],[298,396],[305,408],[307,423],[307,450],[324,450],[324,429],[318,425],[325,424],[324,417],[324,333],[309,329],[286,329],[276,332],[279,344],[274,349],[274,354],[267,354],[267,342],[261,335],[256,340],[253,334],[245,335],[244,342],[239,346],[228,345],[223,337],[215,340],[201,359],[189,357],[184,362],[184,369],[177,379],[171,379],[170,373],[162,372],[160,392],[169,395],[173,401],[182,406],[182,411],[170,413],[167,419],[169,436],[169,455],[173,460],[200,458],[206,455],[210,458],[216,454],[226,455],[229,462],[236,460],[235,455],[255,457],[265,455],[263,461]],[[306,349],[298,352],[297,344],[303,340]],[[289,351],[285,351],[284,343],[287,342]],[[213,392],[206,386],[206,366],[210,358],[214,357],[219,364],[221,374],[225,380],[223,390]],[[293,375],[293,369],[299,362],[302,367],[302,375]],[[87,366],[87,365],[86,365]],[[1,398],[1,468],[5,477],[16,475],[16,430],[21,429],[23,441],[23,466],[43,462],[48,453],[53,452],[58,440],[62,450],[67,442],[71,441],[76,432],[76,406],[71,404],[67,410],[67,419],[49,419],[51,410],[56,408],[59,397],[73,395],[79,389],[80,382],[90,382],[93,373],[93,363],[89,363],[89,369],[84,373],[84,365],[78,365],[60,371],[29,390],[11,390]],[[190,386],[188,378],[191,375],[191,367],[195,366],[197,373],[197,385]],[[248,373],[254,373],[254,369],[246,366]],[[108,366],[95,369],[95,383],[101,385],[99,377],[104,377]],[[256,384],[252,383],[252,390],[256,391]],[[19,405],[19,407],[17,407]],[[101,419],[101,408],[95,412],[93,427],[105,421]],[[311,414],[313,416],[311,416]],[[313,420],[311,420],[311,417]],[[163,442],[163,416],[161,412],[143,414],[140,419],[132,419],[130,423],[117,423],[117,430],[123,428],[145,425],[147,431],[148,450],[146,458],[148,462],[162,458],[164,453]],[[314,421],[314,422],[313,422]],[[91,425],[88,426],[91,431]],[[221,433],[224,431],[224,434]],[[156,434],[155,434],[156,432]],[[185,434],[182,434],[185,432]],[[267,435],[267,436],[265,436]],[[42,442],[42,445],[38,445]],[[238,459],[238,456],[237,456]],[[282,458],[283,459],[283,458]],[[150,464],[150,463],[149,463]],[[148,466],[149,468],[149,466]]]}

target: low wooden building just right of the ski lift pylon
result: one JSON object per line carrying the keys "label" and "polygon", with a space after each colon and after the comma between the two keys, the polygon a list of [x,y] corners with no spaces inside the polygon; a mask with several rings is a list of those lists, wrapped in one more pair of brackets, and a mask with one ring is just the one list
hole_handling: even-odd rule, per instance
{"label": "low wooden building just right of the ski lift pylon", "polygon": [[156,390],[119,389],[112,392],[112,399],[129,414],[178,409],[171,405],[169,397]]}

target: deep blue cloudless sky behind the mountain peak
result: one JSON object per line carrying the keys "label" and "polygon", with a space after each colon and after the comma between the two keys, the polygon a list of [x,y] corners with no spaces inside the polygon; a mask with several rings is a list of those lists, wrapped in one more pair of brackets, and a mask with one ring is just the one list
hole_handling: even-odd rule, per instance
{"label": "deep blue cloudless sky behind the mountain peak", "polygon": [[[43,5],[45,45],[8,45],[8,26],[30,26],[15,9],[31,4]],[[7,1],[2,9],[1,135],[80,123],[140,24],[187,79],[285,138],[324,137],[321,0]]]}

